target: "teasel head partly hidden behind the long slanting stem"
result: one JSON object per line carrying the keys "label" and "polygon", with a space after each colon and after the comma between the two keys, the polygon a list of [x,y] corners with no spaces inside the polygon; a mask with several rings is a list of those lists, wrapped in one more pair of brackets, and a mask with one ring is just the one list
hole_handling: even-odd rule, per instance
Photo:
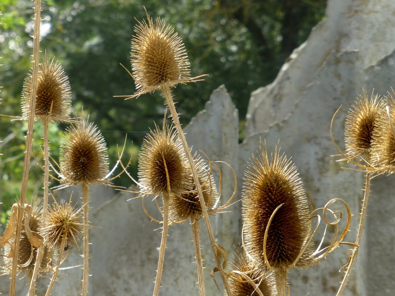
{"label": "teasel head partly hidden behind the long slanting stem", "polygon": [[[207,212],[212,215],[216,214],[217,204],[215,202],[218,192],[214,178],[205,165],[205,162],[197,154],[194,156],[194,163]],[[193,182],[192,175],[190,178],[191,182]],[[198,220],[203,216],[196,184],[194,182],[193,184],[192,190],[181,193],[181,195],[171,195],[169,206],[170,221],[183,222],[187,219]]]}

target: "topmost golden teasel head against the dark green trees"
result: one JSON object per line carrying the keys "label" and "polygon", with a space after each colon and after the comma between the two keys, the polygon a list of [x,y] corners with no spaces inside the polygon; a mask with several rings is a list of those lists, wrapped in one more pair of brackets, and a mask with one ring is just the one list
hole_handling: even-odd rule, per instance
{"label": "topmost golden teasel head against the dark green trees", "polygon": [[[147,13],[147,11],[146,11]],[[196,82],[202,76],[192,78],[190,63],[181,37],[174,28],[157,18],[156,23],[147,13],[147,22],[137,21],[132,37],[131,66],[138,97],[163,85]]]}

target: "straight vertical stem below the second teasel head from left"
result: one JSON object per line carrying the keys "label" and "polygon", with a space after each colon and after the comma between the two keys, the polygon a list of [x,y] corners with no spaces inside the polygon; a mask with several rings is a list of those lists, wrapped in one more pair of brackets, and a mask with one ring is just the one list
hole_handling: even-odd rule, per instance
{"label": "straight vertical stem below the second teasel head from left", "polygon": [[[88,294],[88,277],[89,277],[89,186],[81,184],[82,186],[82,203],[83,203],[83,276],[82,276],[82,296]],[[62,250],[61,250],[62,251]]]}

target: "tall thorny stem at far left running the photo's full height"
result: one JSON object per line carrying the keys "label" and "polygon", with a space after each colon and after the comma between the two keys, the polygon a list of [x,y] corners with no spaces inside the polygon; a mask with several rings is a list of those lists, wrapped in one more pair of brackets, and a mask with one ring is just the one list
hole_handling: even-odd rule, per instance
{"label": "tall thorny stem at far left running the photo's full height", "polygon": [[18,202],[18,220],[16,222],[14,257],[12,260],[9,296],[15,296],[19,239],[21,236],[23,209],[26,202],[26,190],[27,190],[28,178],[29,178],[30,154],[32,149],[32,141],[33,141],[33,124],[34,124],[34,115],[36,110],[37,77],[39,74],[41,0],[35,0],[34,14],[35,14],[34,16],[35,21],[34,21],[34,38],[33,38],[32,90],[30,94],[28,131],[26,133],[26,151],[25,151],[25,160],[23,164],[21,196],[19,197],[19,202]]}

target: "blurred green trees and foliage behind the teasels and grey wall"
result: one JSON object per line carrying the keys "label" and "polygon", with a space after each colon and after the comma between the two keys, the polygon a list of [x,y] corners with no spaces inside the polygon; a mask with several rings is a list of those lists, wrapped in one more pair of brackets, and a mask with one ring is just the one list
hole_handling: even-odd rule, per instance
{"label": "blurred green trees and foliage behind the teasels and grey wall", "polygon": [[[1,114],[21,114],[20,93],[32,59],[32,5],[30,0],[0,3]],[[134,17],[145,18],[143,5],[151,16],[160,16],[175,27],[185,42],[192,75],[209,74],[198,87],[190,84],[174,90],[175,97],[183,101],[179,106],[182,123],[188,123],[211,92],[225,84],[242,125],[250,93],[273,81],[292,50],[324,16],[326,0],[43,1],[40,48],[65,68],[74,109],[79,114],[83,106],[102,130],[112,163],[116,144],[123,143],[124,135],[128,135],[129,147],[133,141],[134,168],[143,136],[163,116],[163,99],[158,94],[133,102],[113,97],[135,90],[133,79],[119,64],[130,69]],[[11,122],[4,116],[0,122],[0,200],[3,209],[9,209],[20,191],[26,123]],[[51,124],[50,128],[52,155],[57,158],[64,126]],[[38,157],[41,137],[35,135]],[[28,195],[41,194],[42,175],[40,168],[32,168]],[[130,185],[130,181],[120,180],[119,184]],[[5,215],[2,217],[4,225]]]}

